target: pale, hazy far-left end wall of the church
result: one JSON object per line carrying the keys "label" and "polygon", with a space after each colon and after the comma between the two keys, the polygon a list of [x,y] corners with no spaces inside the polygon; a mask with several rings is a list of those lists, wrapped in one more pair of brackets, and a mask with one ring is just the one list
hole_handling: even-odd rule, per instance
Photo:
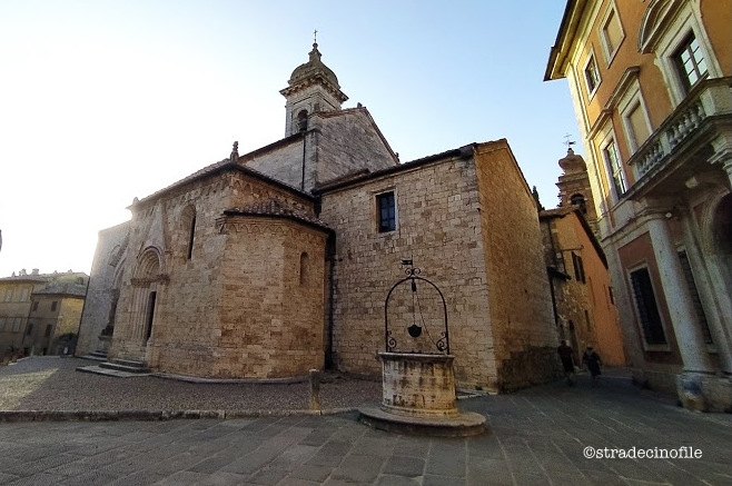
{"label": "pale, hazy far-left end wall of the church", "polygon": [[86,305],[79,326],[76,356],[96,351],[100,345],[99,335],[109,324],[115,276],[125,261],[122,254],[129,226],[129,222],[123,222],[99,231]]}

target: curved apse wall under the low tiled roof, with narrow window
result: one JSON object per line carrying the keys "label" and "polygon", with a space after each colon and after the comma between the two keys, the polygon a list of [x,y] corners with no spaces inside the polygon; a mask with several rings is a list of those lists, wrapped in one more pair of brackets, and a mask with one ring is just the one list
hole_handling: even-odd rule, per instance
{"label": "curved apse wall under the low tiled roof, with narrow window", "polygon": [[323,230],[229,217],[215,376],[306,376],[324,364]]}

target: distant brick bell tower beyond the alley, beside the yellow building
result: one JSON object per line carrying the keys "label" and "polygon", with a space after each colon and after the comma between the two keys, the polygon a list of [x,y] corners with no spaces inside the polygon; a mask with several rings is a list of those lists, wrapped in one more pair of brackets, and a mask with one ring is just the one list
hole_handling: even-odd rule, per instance
{"label": "distant brick bell tower beyond the alley, beside the yellow building", "polygon": [[560,176],[560,181],[556,184],[560,188],[560,206],[578,207],[596,234],[597,212],[590,188],[590,175],[587,173],[587,166],[584,159],[582,156],[575,155],[572,147],[570,147],[567,148],[566,157],[560,159],[560,167],[564,171]]}

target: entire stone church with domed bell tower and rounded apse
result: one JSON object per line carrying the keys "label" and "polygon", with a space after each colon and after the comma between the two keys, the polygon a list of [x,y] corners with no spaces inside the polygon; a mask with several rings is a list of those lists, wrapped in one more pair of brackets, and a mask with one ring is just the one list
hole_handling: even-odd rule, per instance
{"label": "entire stone church with domed bell tower and rounded apse", "polygon": [[[100,231],[76,354],[217,379],[376,376],[385,298],[412,260],[444,295],[458,386],[555,377],[537,207],[507,141],[400,163],[365,107],[343,108],[320,56],[313,44],[280,91],[285,138],[235,142]],[[392,321],[415,308],[405,295]]]}

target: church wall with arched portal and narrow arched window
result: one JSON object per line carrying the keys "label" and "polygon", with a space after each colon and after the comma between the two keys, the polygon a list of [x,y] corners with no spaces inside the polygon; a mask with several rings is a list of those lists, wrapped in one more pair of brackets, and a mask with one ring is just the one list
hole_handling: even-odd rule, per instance
{"label": "church wall with arched portal and narrow arched window", "polygon": [[[219,259],[225,244],[216,219],[229,200],[230,184],[220,175],[133,208],[129,265],[117,307],[111,358],[145,358],[154,368],[191,375],[210,368],[221,292]],[[194,214],[196,231],[188,259]],[[162,256],[160,272],[166,281],[157,284],[152,334],[146,346],[144,339],[131,334],[135,327],[145,327],[145,311],[133,313],[137,290],[131,279],[138,258],[149,247]]]}

